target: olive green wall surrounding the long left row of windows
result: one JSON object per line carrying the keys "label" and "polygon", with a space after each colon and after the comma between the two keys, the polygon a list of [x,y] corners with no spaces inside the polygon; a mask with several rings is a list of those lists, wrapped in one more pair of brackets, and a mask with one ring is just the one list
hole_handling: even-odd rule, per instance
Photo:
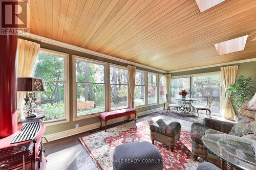
{"label": "olive green wall surrounding the long left row of windows", "polygon": [[[92,117],[92,118],[87,118],[87,119],[81,119],[81,120],[77,120],[77,121],[73,121],[73,98],[72,98],[72,81],[73,81],[73,77],[72,77],[72,55],[76,55],[76,56],[80,56],[80,57],[85,57],[85,58],[89,58],[89,59],[94,59],[94,60],[99,60],[99,61],[104,61],[104,62],[108,62],[108,63],[112,63],[112,64],[117,64],[117,65],[121,65],[121,66],[127,66],[126,63],[122,63],[122,62],[118,62],[115,60],[110,60],[110,59],[105,59],[105,58],[101,58],[101,57],[97,57],[97,56],[93,56],[90,54],[86,54],[86,53],[81,53],[78,51],[74,51],[74,50],[70,50],[68,48],[63,48],[63,47],[59,47],[59,46],[55,46],[55,45],[51,45],[51,44],[47,44],[47,43],[43,43],[43,42],[39,42],[39,41],[35,41],[32,39],[28,39],[28,38],[23,38],[23,37],[19,37],[22,39],[27,39],[29,41],[34,41],[40,44],[41,48],[45,48],[48,50],[53,50],[53,51],[58,51],[58,52],[62,52],[62,53],[67,53],[69,54],[70,58],[69,58],[69,70],[70,70],[70,122],[68,123],[63,123],[63,124],[58,124],[58,125],[52,125],[52,126],[48,126],[46,128],[46,132],[45,135],[49,135],[52,133],[57,133],[57,132],[61,132],[61,131],[65,131],[65,130],[69,130],[69,129],[74,129],[76,124],[79,124],[79,127],[82,126],[86,126],[86,125],[90,125],[90,124],[94,124],[94,123],[98,123],[100,122],[99,117]],[[163,74],[163,72],[158,72],[155,70],[150,70],[150,69],[145,69],[145,68],[141,68],[141,67],[137,67],[137,69],[140,70],[145,70],[145,71],[151,71],[151,72],[156,72],[158,74]],[[159,90],[159,89],[158,89]],[[159,91],[158,91],[159,93]],[[143,108],[139,108],[136,109],[137,112],[143,112],[146,110],[151,110],[151,109],[156,109],[159,107],[163,107],[163,104],[160,105],[154,105],[154,106],[148,106],[148,107],[143,107]]]}

